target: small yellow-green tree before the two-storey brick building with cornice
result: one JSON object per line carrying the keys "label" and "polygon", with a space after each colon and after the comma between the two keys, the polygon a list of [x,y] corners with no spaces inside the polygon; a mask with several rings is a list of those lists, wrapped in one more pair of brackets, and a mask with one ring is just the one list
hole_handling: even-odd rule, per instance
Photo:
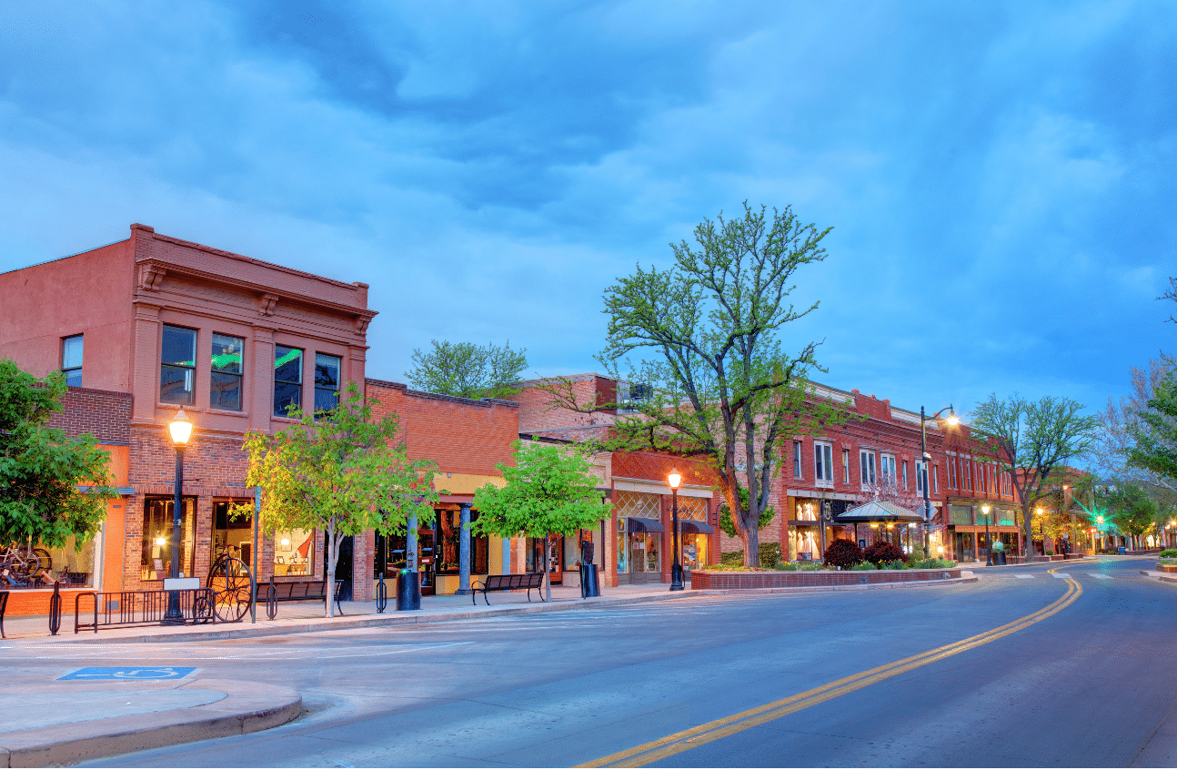
{"label": "small yellow-green tree before the two-storey brick building with cornice", "polygon": [[[339,544],[348,535],[405,530],[410,515],[433,512],[432,460],[411,460],[398,440],[395,416],[372,421],[374,398],[366,403],[354,383],[347,398],[332,410],[307,413],[265,436],[250,431],[247,484],[261,487],[259,524],[278,530],[318,529],[327,536],[327,579],[335,575]],[[330,593],[328,593],[330,596]],[[326,612],[334,617],[334,603]]]}

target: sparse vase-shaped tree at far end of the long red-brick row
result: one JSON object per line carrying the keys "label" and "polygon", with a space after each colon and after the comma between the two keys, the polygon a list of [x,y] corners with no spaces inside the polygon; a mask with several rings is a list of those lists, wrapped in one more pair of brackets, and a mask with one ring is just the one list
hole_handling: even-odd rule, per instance
{"label": "sparse vase-shaped tree at far end of the long red-brick row", "polygon": [[1037,401],[996,393],[978,404],[970,425],[973,451],[1010,474],[1022,505],[1025,542],[1033,543],[1035,500],[1045,497],[1051,473],[1095,443],[1098,418],[1079,414],[1084,406],[1066,397],[1044,396]]}

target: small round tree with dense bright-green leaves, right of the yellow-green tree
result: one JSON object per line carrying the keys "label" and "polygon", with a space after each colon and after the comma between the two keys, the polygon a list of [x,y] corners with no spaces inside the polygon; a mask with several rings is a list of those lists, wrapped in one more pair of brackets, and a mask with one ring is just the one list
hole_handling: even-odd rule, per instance
{"label": "small round tree with dense bright-green leaves, right of the yellow-green tree", "polygon": [[[516,440],[513,449],[514,465],[497,465],[506,485],[487,484],[474,492],[478,520],[471,530],[499,537],[541,537],[546,560],[548,535],[571,535],[612,517],[613,509],[601,500],[583,447],[524,446]],[[543,564],[536,567],[544,570],[551,599],[548,570]]]}

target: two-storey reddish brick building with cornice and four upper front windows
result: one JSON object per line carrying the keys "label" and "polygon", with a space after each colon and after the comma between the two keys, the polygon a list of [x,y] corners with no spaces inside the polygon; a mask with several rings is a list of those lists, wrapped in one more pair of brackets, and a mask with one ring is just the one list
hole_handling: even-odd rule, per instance
{"label": "two-storey reddish brick building with cornice and four upper front windows", "polygon": [[[95,540],[105,567],[91,584],[104,591],[159,588],[169,571],[175,450],[166,424],[180,407],[194,423],[180,572],[206,575],[221,547],[251,556],[251,523],[227,516],[252,499],[245,432],[290,424],[292,404],[333,404],[348,381],[363,389],[375,316],[365,284],[145,225],[124,241],[0,274],[0,358],[36,376],[64,371],[80,390],[67,396],[62,425],[89,425],[126,458],[126,493],[113,504],[121,510]],[[314,532],[278,533],[260,549],[259,577],[314,575],[321,550]]]}

